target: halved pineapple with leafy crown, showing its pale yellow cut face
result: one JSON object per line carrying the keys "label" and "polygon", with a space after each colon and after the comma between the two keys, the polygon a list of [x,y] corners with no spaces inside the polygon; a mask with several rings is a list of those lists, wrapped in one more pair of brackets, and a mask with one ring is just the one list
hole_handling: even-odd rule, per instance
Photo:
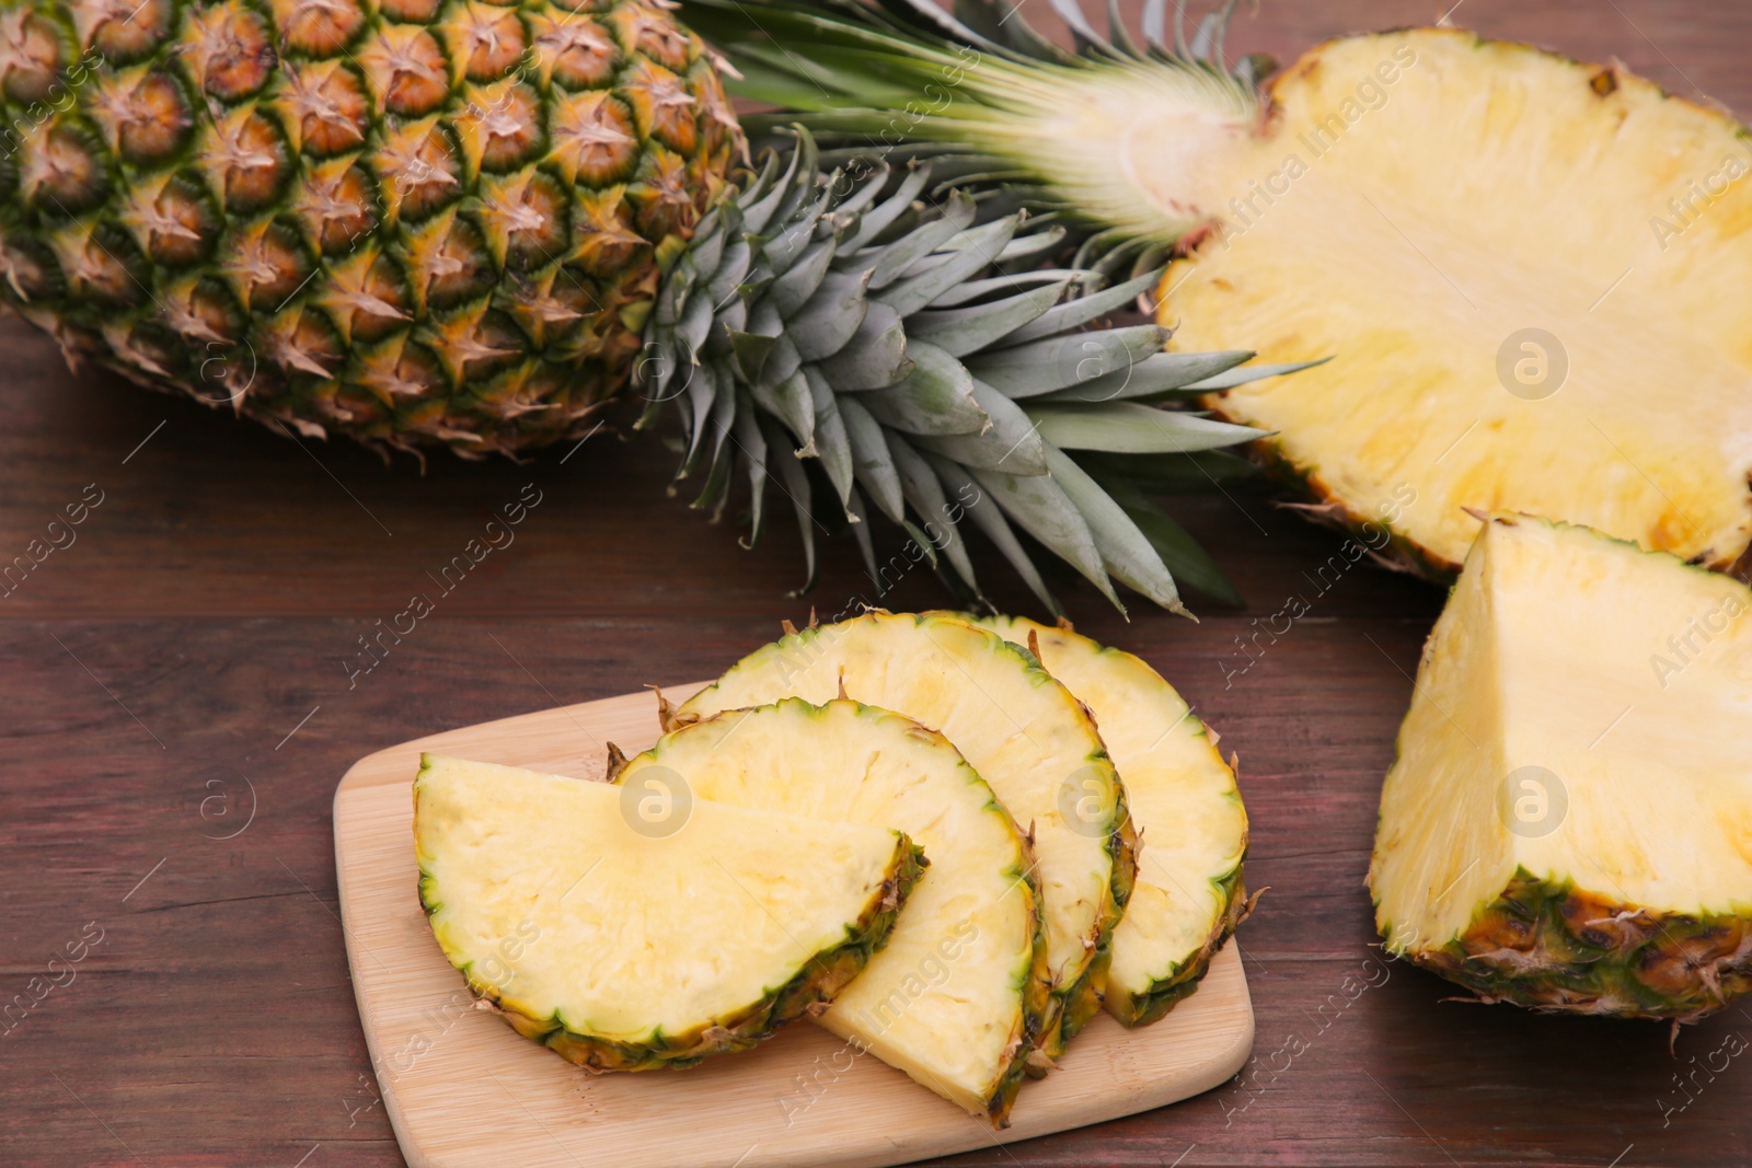
{"label": "halved pineapple with leafy crown, showing its pale yellow cut face", "polygon": [[743,93],[804,110],[774,117],[950,151],[993,201],[1081,217],[1077,263],[1176,249],[1177,347],[1330,357],[1237,371],[1207,405],[1274,431],[1261,452],[1314,513],[1381,524],[1382,555],[1452,573],[1468,506],[1710,566],[1747,548],[1752,147],[1731,117],[1456,30],[1333,40],[1260,93],[1265,65],[1223,65],[1223,14],[1169,49],[1163,9],[1139,47],[1056,5],[1069,54],[1009,0],[683,5],[746,61]]}

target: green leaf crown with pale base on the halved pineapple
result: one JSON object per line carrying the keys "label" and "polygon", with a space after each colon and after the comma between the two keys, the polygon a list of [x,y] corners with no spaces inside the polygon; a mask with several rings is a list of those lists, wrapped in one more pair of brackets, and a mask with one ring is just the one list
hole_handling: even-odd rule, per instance
{"label": "green leaf crown with pale base on the halved pineapple", "polygon": [[[1013,0],[682,0],[685,19],[722,46],[731,89],[781,107],[745,119],[755,133],[802,124],[825,145],[937,158],[946,186],[1060,222],[1083,247],[1076,266],[1134,275],[1207,228],[1195,196],[1200,159],[1263,116],[1267,56],[1226,63],[1239,0],[1186,35],[1176,0],[1146,0],[1141,40],[1107,2],[1099,32],[1076,0],[1048,0],[1076,51],[1041,35]],[[1037,221],[1039,222],[1039,221]]]}

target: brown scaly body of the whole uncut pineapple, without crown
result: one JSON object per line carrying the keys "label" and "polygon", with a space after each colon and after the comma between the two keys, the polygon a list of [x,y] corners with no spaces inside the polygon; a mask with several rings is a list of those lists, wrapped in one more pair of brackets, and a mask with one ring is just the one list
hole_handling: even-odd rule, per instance
{"label": "brown scaly body of the whole uncut pineapple, without crown", "polygon": [[652,0],[9,4],[0,98],[0,296],[68,364],[464,457],[594,424],[743,151]]}

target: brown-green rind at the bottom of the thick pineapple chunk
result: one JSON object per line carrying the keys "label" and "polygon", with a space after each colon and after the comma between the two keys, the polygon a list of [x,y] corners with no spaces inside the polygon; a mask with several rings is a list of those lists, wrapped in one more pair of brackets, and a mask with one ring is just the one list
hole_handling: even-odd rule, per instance
{"label": "brown-green rind at the bottom of the thick pineapple chunk", "polygon": [[1657,912],[1579,888],[1514,879],[1445,944],[1388,947],[1484,1002],[1537,1010],[1696,1023],[1752,989],[1752,905]]}

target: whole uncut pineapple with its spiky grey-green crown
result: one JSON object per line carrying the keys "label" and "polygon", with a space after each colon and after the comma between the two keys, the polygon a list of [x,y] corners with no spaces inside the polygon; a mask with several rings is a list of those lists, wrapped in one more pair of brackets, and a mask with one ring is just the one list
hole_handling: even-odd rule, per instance
{"label": "whole uncut pineapple with its spiky grey-green crown", "polygon": [[0,298],[74,364],[384,452],[519,454],[673,401],[696,506],[743,496],[752,545],[778,480],[809,581],[837,522],[887,587],[874,510],[965,599],[964,513],[1055,611],[1014,527],[1114,602],[1179,609],[1172,574],[1230,597],[1139,483],[1258,433],[1102,378],[1249,354],[1083,331],[1137,287],[1016,270],[1062,229],[937,198],[929,166],[804,138],[741,170],[724,65],[669,7],[0,4]]}

